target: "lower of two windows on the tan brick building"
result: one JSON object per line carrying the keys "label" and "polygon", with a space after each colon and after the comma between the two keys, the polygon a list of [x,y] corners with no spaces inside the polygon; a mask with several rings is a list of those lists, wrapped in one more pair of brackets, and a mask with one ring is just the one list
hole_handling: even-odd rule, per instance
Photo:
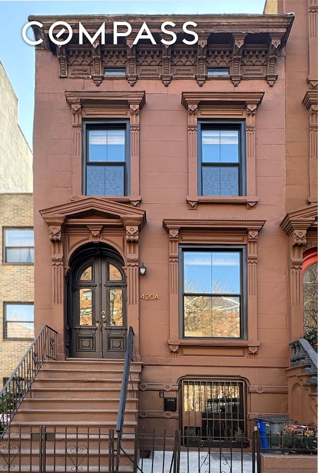
{"label": "lower of two windows on the tan brick building", "polygon": [[3,338],[34,338],[34,304],[31,302],[4,302]]}

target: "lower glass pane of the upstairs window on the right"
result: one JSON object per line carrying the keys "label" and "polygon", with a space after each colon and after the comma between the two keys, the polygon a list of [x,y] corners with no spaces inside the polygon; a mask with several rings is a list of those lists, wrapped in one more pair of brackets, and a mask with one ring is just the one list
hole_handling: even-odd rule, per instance
{"label": "lower glass pane of the upstairs window on the right", "polygon": [[202,167],[202,195],[239,195],[239,168]]}

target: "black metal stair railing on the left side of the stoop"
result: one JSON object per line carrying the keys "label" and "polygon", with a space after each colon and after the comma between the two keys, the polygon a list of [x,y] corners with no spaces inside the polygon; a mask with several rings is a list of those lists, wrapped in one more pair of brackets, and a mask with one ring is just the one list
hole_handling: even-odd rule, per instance
{"label": "black metal stair railing on the left side of the stoop", "polygon": [[44,325],[0,392],[0,439],[46,358],[57,359],[57,332]]}

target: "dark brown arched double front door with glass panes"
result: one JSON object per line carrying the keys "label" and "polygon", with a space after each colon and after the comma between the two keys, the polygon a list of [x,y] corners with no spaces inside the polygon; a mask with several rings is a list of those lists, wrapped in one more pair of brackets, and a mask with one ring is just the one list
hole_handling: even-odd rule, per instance
{"label": "dark brown arched double front door with glass panes", "polygon": [[120,257],[94,255],[72,272],[72,356],[124,358],[126,276]]}

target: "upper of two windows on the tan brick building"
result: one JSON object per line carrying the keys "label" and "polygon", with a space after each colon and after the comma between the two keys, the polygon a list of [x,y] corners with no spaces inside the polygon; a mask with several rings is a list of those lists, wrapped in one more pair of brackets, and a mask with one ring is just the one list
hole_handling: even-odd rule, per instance
{"label": "upper of two windows on the tan brick building", "polygon": [[33,228],[4,228],[3,242],[4,263],[34,263]]}

